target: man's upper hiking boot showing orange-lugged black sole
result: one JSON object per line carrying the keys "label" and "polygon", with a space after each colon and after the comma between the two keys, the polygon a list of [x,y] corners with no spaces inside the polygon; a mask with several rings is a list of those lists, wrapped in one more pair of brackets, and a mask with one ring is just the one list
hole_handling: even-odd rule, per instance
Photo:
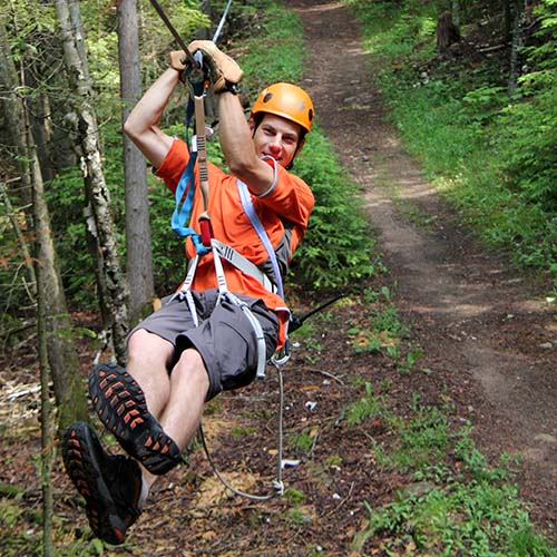
{"label": "man's upper hiking boot showing orange-lugged black sole", "polygon": [[141,388],[124,368],[96,365],[89,375],[89,394],[100,421],[149,472],[159,476],[182,462],[178,446],[147,410]]}

